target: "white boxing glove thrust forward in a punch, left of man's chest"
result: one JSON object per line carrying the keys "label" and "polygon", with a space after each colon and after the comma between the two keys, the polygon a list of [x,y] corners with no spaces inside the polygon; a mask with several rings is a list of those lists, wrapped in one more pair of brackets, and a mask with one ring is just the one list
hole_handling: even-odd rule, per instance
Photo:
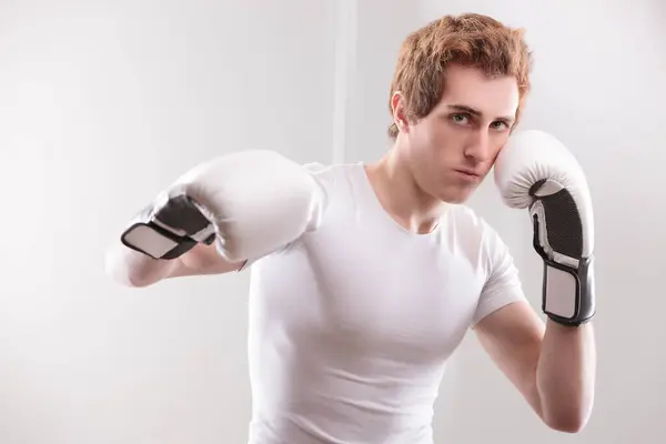
{"label": "white boxing glove thrust forward in a punch, left of man's chest", "polygon": [[240,151],[179,178],[121,241],[154,259],[216,241],[225,260],[252,261],[316,229],[324,205],[323,189],[303,165],[273,151]]}

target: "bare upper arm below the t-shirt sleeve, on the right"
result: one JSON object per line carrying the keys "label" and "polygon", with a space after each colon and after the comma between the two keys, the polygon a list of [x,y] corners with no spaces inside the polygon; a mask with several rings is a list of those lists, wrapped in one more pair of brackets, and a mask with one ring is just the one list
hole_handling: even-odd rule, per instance
{"label": "bare upper arm below the t-shirt sleeve, on the right", "polygon": [[485,316],[474,331],[492,361],[538,410],[536,367],[545,325],[529,303],[505,305]]}

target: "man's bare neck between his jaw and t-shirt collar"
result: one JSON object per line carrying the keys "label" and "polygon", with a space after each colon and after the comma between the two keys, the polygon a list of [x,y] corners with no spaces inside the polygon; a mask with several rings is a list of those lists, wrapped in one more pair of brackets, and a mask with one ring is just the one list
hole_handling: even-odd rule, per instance
{"label": "man's bare neck between his jaw and t-shirt collar", "polygon": [[408,163],[395,147],[369,164],[366,172],[384,210],[411,232],[430,233],[451,206],[418,186]]}

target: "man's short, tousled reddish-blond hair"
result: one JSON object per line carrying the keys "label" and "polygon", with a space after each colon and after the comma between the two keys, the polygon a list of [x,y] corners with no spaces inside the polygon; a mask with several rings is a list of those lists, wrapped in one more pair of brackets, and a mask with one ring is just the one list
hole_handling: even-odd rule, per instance
{"label": "man's short, tousled reddish-blond hair", "polygon": [[[532,52],[524,40],[524,30],[477,13],[445,16],[407,36],[391,82],[391,114],[392,97],[400,91],[408,121],[426,117],[442,98],[450,63],[478,68],[488,77],[515,77],[521,95],[517,123],[531,88]],[[392,123],[389,135],[395,139],[397,133],[397,125]]]}

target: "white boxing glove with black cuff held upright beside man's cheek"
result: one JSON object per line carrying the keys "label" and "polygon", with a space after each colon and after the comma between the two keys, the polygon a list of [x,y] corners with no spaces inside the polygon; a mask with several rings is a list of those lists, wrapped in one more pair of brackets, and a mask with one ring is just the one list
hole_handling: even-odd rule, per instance
{"label": "white boxing glove with black cuff held upright beside man's cheek", "polygon": [[594,220],[581,165],[553,135],[531,130],[509,139],[494,176],[504,203],[529,211],[544,260],[544,313],[566,325],[587,322],[596,312]]}

